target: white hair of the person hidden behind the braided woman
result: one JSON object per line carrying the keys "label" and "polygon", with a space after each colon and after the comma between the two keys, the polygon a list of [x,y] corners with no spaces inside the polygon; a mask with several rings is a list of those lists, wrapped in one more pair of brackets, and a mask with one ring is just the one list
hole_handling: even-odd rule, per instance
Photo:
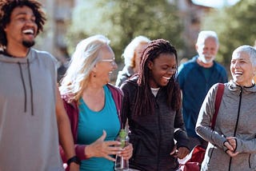
{"label": "white hair of the person hidden behind the braided woman", "polygon": [[134,58],[134,52],[135,49],[142,43],[148,43],[150,42],[149,38],[146,38],[145,36],[137,36],[134,38],[128,46],[126,46],[126,49],[124,50],[124,53],[122,54],[122,57],[125,59],[125,65],[126,66],[132,66],[133,65],[133,58]]}

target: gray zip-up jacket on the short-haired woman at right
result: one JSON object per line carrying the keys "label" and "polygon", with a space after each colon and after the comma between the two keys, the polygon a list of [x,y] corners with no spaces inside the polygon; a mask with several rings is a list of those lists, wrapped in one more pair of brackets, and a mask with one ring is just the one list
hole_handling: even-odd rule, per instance
{"label": "gray zip-up jacket on the short-haired woman at right", "polygon": [[[243,87],[233,81],[225,84],[213,131],[210,121],[217,87],[213,85],[207,93],[196,125],[198,135],[210,142],[201,170],[256,170],[256,86]],[[236,137],[237,156],[225,153],[226,137]]]}

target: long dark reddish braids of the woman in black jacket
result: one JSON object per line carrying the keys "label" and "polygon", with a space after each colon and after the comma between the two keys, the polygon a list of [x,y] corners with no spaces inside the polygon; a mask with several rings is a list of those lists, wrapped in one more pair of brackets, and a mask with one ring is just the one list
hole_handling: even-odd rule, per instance
{"label": "long dark reddish braids of the woman in black jacket", "polygon": [[[164,39],[157,39],[146,47],[142,53],[142,61],[140,70],[138,72],[138,91],[136,94],[136,105],[134,112],[138,115],[146,115],[154,113],[154,98],[151,96],[150,90],[150,69],[148,67],[149,62],[154,62],[155,58],[158,58],[160,54],[174,54],[175,60],[178,63],[177,51],[170,42]],[[178,64],[177,64],[178,65]],[[177,68],[178,66],[176,66]],[[170,81],[165,87],[162,87],[166,91],[167,106],[171,109],[181,109],[181,94],[178,82],[176,81],[175,74],[170,78]]]}

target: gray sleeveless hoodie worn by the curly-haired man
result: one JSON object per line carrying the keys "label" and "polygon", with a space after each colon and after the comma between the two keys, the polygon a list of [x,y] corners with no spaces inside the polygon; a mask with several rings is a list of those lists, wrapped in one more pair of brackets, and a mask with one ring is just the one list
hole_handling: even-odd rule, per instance
{"label": "gray sleeveless hoodie worn by the curly-haired man", "polygon": [[55,114],[56,60],[0,54],[0,170],[63,170]]}

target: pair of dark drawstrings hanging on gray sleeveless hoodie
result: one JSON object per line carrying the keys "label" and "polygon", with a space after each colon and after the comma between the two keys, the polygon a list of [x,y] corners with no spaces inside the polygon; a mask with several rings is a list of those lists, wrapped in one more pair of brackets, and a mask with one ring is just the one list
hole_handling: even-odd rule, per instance
{"label": "pair of dark drawstrings hanging on gray sleeveless hoodie", "polygon": [[[31,79],[29,59],[26,60],[26,63],[27,63],[27,66],[28,66],[29,81],[30,81],[31,115],[34,116],[33,86],[32,86],[32,79]],[[22,77],[22,85],[23,85],[23,89],[24,89],[24,98],[25,98],[24,99],[24,112],[26,113],[26,85],[25,85],[23,74],[22,74],[22,66],[21,66],[20,62],[18,62],[18,66],[19,66],[19,71],[20,71],[21,77]]]}

